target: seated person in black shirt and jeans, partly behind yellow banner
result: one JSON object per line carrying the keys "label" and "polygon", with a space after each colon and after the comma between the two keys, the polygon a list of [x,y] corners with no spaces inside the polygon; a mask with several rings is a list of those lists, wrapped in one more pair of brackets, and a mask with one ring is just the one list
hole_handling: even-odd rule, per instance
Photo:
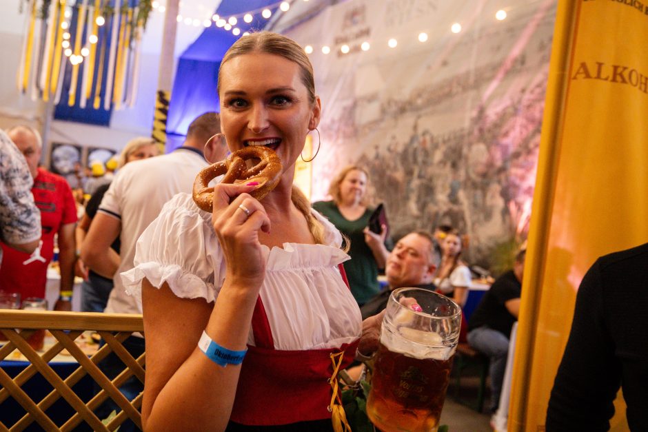
{"label": "seated person in black shirt and jeans, partly behind yellow banner", "polygon": [[526,250],[518,252],[512,270],[495,280],[468,322],[468,344],[490,360],[490,411],[497,411],[509,352],[509,337],[520,311]]}

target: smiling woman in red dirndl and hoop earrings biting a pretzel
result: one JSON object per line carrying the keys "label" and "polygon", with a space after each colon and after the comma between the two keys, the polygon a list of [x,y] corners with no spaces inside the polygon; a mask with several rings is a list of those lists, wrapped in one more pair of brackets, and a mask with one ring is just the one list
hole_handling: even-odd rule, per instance
{"label": "smiling woman in red dirndl and hoop earrings biting a pretzel", "polygon": [[122,276],[143,303],[144,429],[341,427],[336,372],[377,348],[380,320],[361,321],[341,234],[292,184],[321,116],[312,66],[291,39],[250,34],[218,91],[227,146],[270,147],[281,178],[261,200],[259,183],[219,183],[211,214],[178,194],[139,238]]}

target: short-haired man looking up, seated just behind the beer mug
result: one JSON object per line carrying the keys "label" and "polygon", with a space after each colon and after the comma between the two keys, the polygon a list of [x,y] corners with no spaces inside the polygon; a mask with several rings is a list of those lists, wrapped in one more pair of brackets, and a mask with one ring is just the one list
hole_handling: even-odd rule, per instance
{"label": "short-haired man looking up, seated just behind the beer mug", "polygon": [[428,232],[414,231],[398,240],[385,263],[389,286],[360,308],[363,320],[383,311],[389,294],[396,288],[419,287],[436,291],[432,278],[439,259],[434,239]]}

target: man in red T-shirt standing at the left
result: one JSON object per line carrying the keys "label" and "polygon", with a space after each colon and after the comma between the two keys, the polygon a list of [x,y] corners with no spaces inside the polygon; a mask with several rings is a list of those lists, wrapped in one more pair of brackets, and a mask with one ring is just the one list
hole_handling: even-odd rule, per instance
{"label": "man in red T-shirt standing at the left", "polygon": [[8,135],[25,156],[34,178],[32,194],[41,211],[43,234],[39,247],[31,255],[2,245],[0,289],[19,292],[23,300],[28,297],[45,298],[48,265],[54,256],[54,235],[58,234],[61,295],[54,309],[72,310],[74,261],[77,254],[74,240],[77,209],[72,189],[63,177],[38,167],[43,145],[36,130],[28,126],[16,126],[8,131]]}

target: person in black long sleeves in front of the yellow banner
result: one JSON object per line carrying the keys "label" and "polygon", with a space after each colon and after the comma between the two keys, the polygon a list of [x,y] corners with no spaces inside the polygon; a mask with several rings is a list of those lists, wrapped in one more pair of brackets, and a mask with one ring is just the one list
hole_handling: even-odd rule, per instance
{"label": "person in black long sleeves in front of the yellow banner", "polygon": [[631,431],[648,431],[648,243],[598,258],[576,296],[551,390],[548,432],[607,431],[619,387]]}

